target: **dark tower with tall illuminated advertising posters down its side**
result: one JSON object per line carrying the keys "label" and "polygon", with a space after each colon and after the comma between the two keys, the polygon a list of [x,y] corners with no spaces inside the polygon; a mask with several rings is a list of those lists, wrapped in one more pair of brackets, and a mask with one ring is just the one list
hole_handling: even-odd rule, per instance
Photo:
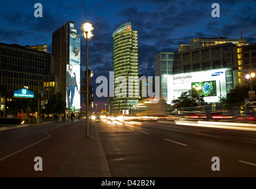
{"label": "dark tower with tall illuminated advertising posters down its side", "polygon": [[73,21],[53,32],[52,54],[55,73],[60,79],[59,91],[66,99],[67,109],[80,111],[80,35]]}

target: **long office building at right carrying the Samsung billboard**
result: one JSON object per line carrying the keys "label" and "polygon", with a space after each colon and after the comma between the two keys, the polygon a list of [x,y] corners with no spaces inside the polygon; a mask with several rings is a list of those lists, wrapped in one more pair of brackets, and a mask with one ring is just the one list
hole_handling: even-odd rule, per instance
{"label": "long office building at right carrying the Samsung billboard", "polygon": [[[238,84],[250,82],[245,78],[245,76],[250,73],[256,73],[256,43],[245,43],[246,40],[239,41],[239,43],[230,41],[229,43],[208,45],[206,47],[190,48],[189,50],[174,52],[173,65],[172,67],[167,66],[167,68],[161,66],[160,63],[163,60],[161,60],[160,57],[164,57],[163,54],[166,54],[165,56],[167,56],[168,53],[159,53],[155,57],[155,75],[159,76],[160,73],[165,73],[167,74],[167,78],[168,76],[171,76],[169,80],[163,78],[163,76],[161,77],[162,97],[166,97],[164,91],[166,88],[168,89],[168,82],[171,82],[171,90],[173,91],[170,91],[169,89],[167,92],[167,96],[172,95],[168,96],[170,103],[174,96],[177,97],[178,93],[173,94],[174,91],[177,92],[181,90],[178,89],[179,87],[177,83],[182,82],[179,84],[179,86],[181,86],[183,82],[192,80],[192,78],[187,78],[187,80],[184,80],[183,77],[185,77],[185,75],[186,77],[191,75],[191,77],[193,76],[197,78],[193,73],[197,73],[199,76],[200,74],[203,76],[205,73],[211,73],[211,71],[225,74],[225,83],[223,83],[223,78],[220,80],[222,83],[219,94],[221,95],[229,93],[231,89]],[[215,73],[212,73],[213,76],[215,76]],[[168,85],[167,87],[163,84],[166,82],[166,80],[166,85]],[[197,80],[200,80],[200,77],[198,77]],[[196,83],[195,81],[193,82]],[[186,88],[187,90],[190,89],[191,83],[187,84],[187,87],[188,88],[183,88]],[[216,87],[218,89],[218,82],[216,82]],[[210,99],[213,99],[213,97],[208,97],[208,99],[210,102]]]}

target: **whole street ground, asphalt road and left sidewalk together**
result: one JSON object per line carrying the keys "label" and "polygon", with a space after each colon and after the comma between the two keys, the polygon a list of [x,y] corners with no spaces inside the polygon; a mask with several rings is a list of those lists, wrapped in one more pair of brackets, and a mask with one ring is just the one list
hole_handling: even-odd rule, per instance
{"label": "whole street ground, asphalt road and left sidewalk together", "polygon": [[[92,138],[83,137],[84,120],[1,131],[0,176],[255,177],[254,125],[189,123],[101,119]],[[34,170],[35,157],[43,171]]]}

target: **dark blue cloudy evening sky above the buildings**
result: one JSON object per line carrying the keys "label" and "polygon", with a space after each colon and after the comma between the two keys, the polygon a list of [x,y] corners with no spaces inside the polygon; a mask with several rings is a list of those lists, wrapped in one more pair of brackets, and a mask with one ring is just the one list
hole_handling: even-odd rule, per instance
{"label": "dark blue cloudy evening sky above the buildings", "polygon": [[[212,4],[220,6],[220,17],[212,17]],[[43,5],[43,17],[34,17],[34,4]],[[94,30],[89,41],[89,69],[96,77],[109,77],[112,71],[112,34],[131,22],[138,30],[139,73],[154,76],[154,57],[164,51],[178,51],[193,37],[247,38],[256,43],[256,1],[165,1],[165,0],[72,0],[0,2],[0,42],[20,45],[48,45],[51,36],[65,21],[80,26],[90,22]],[[86,42],[82,40],[82,75],[85,70]],[[105,109],[105,98],[93,99],[98,110]],[[101,105],[100,105],[101,104]]]}

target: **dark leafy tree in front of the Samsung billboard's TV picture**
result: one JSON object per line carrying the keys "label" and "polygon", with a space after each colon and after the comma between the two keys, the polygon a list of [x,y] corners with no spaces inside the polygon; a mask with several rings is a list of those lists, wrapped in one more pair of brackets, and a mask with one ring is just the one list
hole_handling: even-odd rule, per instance
{"label": "dark leafy tree in front of the Samsung billboard's TV picture", "polygon": [[197,102],[200,100],[200,105],[205,105],[205,100],[203,96],[198,96],[195,90],[187,90],[183,92],[176,100],[173,100],[172,103],[177,104],[177,107],[193,107],[197,106]]}

